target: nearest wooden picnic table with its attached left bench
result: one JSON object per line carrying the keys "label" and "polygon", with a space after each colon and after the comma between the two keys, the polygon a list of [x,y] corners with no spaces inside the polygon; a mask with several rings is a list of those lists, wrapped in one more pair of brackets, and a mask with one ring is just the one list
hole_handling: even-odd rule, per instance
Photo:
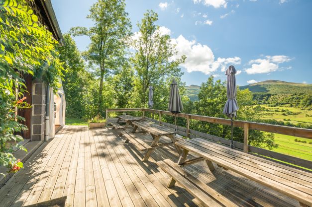
{"label": "nearest wooden picnic table with its attached left bench", "polygon": [[[212,164],[214,162],[220,167],[232,170],[250,180],[296,199],[302,207],[312,207],[312,173],[231,149],[202,138],[185,139],[177,141],[175,144],[183,149],[178,163],[166,159],[157,162],[157,164],[172,177],[168,187],[178,182],[204,205],[211,200],[211,197],[218,199],[219,196],[211,189],[207,189],[207,185],[182,171],[182,167],[205,160],[210,171],[214,170]],[[186,159],[189,152],[198,157]],[[203,191],[208,195],[205,196]]]}

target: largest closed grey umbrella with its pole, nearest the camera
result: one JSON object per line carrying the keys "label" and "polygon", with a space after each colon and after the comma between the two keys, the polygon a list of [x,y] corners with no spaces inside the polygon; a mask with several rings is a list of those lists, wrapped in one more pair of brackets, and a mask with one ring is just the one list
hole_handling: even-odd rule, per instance
{"label": "largest closed grey umbrella with its pole, nearest the camera", "polygon": [[236,69],[234,66],[229,66],[225,74],[227,75],[226,79],[226,96],[227,101],[225,103],[223,114],[226,114],[227,117],[231,119],[231,144],[230,147],[233,148],[233,117],[236,117],[236,111],[239,109],[236,101],[236,78],[235,78]]}

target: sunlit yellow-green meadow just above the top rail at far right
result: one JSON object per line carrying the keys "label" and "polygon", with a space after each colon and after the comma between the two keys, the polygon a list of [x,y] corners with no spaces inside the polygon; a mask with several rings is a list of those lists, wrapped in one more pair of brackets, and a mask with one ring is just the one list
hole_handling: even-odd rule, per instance
{"label": "sunlit yellow-green meadow just above the top rail at far right", "polygon": [[269,107],[268,105],[260,105],[268,111],[263,111],[264,119],[276,119],[279,121],[290,123],[307,123],[312,124],[312,110],[302,110],[296,107]]}

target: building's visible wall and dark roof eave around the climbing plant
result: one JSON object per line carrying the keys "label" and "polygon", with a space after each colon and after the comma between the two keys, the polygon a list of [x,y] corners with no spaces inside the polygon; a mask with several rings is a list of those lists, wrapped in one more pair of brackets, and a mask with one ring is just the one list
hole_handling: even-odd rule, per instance
{"label": "building's visible wall and dark roof eave around the climbing plant", "polygon": [[[60,45],[64,39],[59,28],[50,0],[29,1],[38,20],[47,27],[53,37]],[[18,111],[18,114],[25,118],[28,131],[22,133],[24,139],[44,140],[53,138],[55,130],[65,124],[65,94],[60,87],[53,93],[42,79],[33,79],[31,75],[24,76],[28,93],[25,93],[26,102],[31,108]],[[61,80],[60,80],[61,82]]]}

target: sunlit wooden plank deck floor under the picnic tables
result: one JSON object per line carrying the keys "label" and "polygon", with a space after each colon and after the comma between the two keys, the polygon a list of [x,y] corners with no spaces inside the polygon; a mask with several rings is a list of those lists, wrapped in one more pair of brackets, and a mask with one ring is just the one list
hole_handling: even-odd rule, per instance
{"label": "sunlit wooden plank deck floor under the picnic tables", "polygon": [[[148,135],[137,134],[146,142]],[[167,140],[168,141],[168,140]],[[0,189],[1,207],[22,207],[67,196],[67,207],[182,207],[201,204],[179,185],[168,189],[168,175],[156,161],[177,162],[174,146],[153,151],[148,162],[118,130],[65,126]],[[297,201],[205,162],[188,172],[238,206],[299,206]]]}

